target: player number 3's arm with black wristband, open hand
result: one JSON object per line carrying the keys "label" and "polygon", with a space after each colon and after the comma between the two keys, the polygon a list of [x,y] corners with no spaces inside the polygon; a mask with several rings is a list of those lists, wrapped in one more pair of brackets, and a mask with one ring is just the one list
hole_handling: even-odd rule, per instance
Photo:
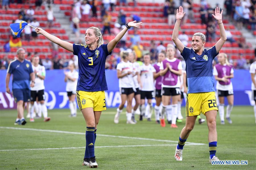
{"label": "player number 3's arm with black wristband, open hand", "polygon": [[[140,28],[140,26],[142,25],[142,22],[136,23],[136,21],[132,21],[128,23],[129,27],[137,27]],[[124,36],[124,34],[127,32],[128,28],[124,28],[120,33],[118,33],[116,35],[116,37],[114,39],[112,39],[109,43],[108,43],[108,53],[110,53],[115,47],[116,44],[120,41],[120,39]],[[73,48],[73,46],[72,46]]]}

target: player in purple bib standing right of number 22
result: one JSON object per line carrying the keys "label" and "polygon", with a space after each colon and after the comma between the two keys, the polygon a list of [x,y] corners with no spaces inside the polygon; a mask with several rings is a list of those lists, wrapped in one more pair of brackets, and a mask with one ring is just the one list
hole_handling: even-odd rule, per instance
{"label": "player in purple bib standing right of number 22", "polygon": [[232,65],[228,62],[228,56],[225,53],[220,53],[218,55],[219,64],[216,64],[213,68],[213,75],[217,80],[216,89],[219,97],[219,114],[220,114],[220,124],[224,125],[224,97],[228,99],[228,106],[226,112],[226,119],[228,123],[232,123],[230,119],[230,114],[232,112],[234,104],[234,92],[231,78],[234,77],[234,70]]}

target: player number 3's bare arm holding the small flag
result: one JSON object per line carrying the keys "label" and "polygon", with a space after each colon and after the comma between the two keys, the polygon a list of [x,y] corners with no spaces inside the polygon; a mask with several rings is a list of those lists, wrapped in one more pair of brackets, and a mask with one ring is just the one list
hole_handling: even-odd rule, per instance
{"label": "player number 3's bare arm holding the small flag", "polygon": [[66,49],[68,51],[74,52],[72,43],[69,43],[67,41],[63,41],[63,40],[59,39],[58,37],[55,37],[54,35],[49,34],[45,30],[43,30],[42,28],[36,28],[35,30],[36,30],[37,34],[42,34],[46,38],[48,38],[50,41],[54,42],[55,44],[58,44],[59,46],[63,47],[64,49]]}

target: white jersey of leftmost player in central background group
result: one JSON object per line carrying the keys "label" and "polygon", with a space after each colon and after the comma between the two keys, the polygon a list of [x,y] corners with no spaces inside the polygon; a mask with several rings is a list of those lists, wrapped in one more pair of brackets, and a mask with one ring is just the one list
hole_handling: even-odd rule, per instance
{"label": "white jersey of leftmost player in central background group", "polygon": [[[120,63],[117,64],[116,70],[120,70],[122,74],[132,72],[133,67],[132,67],[131,62],[124,62],[121,61]],[[121,88],[134,88],[134,82],[133,82],[133,74],[128,74],[122,78],[119,79],[119,87]]]}

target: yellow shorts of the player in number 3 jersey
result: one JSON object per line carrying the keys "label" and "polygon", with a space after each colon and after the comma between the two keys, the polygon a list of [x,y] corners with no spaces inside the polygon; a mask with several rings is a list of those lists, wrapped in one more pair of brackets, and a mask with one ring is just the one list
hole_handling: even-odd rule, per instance
{"label": "yellow shorts of the player in number 3 jersey", "polygon": [[105,91],[76,91],[77,104],[80,110],[93,108],[93,111],[106,110]]}

